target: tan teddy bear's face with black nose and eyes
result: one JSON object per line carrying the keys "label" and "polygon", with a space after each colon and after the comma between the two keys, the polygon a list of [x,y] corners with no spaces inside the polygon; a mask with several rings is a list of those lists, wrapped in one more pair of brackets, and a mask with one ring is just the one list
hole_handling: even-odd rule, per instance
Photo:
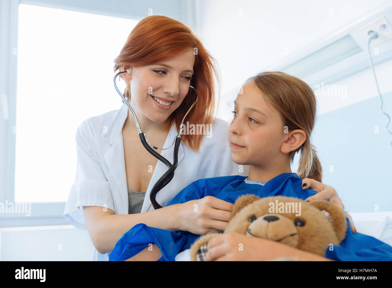
{"label": "tan teddy bear's face with black nose and eyes", "polygon": [[[276,208],[271,207],[270,203],[276,203],[276,199],[290,204],[286,204],[286,209],[283,211],[275,210]],[[294,208],[295,205],[297,209]],[[333,204],[328,202],[328,205]],[[291,210],[287,209],[289,207]],[[343,225],[339,229],[345,232],[345,217],[340,215],[343,215],[343,212],[339,213],[339,210],[335,209],[338,208],[337,206],[328,207],[334,208],[334,216],[338,215],[336,216],[338,218],[334,217],[334,221],[339,221],[339,223],[334,224]],[[325,255],[325,249],[328,246],[339,245],[341,235],[338,235],[340,232],[337,234],[335,231],[336,225],[332,223],[331,214],[323,209],[326,208],[316,207],[311,202],[292,197],[262,198],[241,207],[241,210],[230,220],[225,233],[238,232],[277,241],[314,254]]]}

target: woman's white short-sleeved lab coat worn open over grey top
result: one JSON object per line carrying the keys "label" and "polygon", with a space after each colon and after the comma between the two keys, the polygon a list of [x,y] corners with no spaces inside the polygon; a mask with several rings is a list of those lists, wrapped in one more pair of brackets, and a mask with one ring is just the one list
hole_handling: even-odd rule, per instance
{"label": "woman's white short-sleeved lab coat worn open over grey top", "polygon": [[[120,110],[88,118],[78,127],[75,136],[78,157],[76,179],[64,210],[64,218],[76,228],[87,230],[82,206],[107,207],[113,210],[114,214],[128,214],[127,177],[122,138],[122,128],[128,110],[127,105],[123,103]],[[230,175],[248,176],[249,166],[243,166],[240,172],[239,165],[230,158],[228,129],[229,123],[217,118],[212,126],[212,137],[204,136],[198,153],[183,143],[180,144],[178,167],[174,177],[156,196],[161,206],[167,205],[178,192],[198,179]],[[177,130],[173,125],[163,147],[169,147],[176,135]],[[171,163],[173,149],[174,145],[161,152],[161,155]],[[158,161],[141,212],[154,210],[149,198],[150,191],[166,171],[166,165]],[[129,229],[131,228],[130,226]],[[110,252],[100,254],[94,248],[93,261],[108,261],[109,254]]]}

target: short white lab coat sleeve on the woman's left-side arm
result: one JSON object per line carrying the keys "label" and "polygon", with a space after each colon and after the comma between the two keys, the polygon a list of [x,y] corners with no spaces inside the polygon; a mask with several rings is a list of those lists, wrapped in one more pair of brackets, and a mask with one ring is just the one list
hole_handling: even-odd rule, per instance
{"label": "short white lab coat sleeve on the woman's left-side arm", "polygon": [[85,120],[79,127],[76,140],[76,178],[71,187],[64,218],[76,228],[87,230],[83,206],[101,206],[114,210],[109,181],[103,173],[97,154],[93,130]]}

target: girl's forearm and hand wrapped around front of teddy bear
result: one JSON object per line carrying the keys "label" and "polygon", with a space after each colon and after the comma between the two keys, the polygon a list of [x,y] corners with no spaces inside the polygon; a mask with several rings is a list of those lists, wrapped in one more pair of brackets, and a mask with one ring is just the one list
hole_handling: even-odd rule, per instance
{"label": "girl's forearm and hand wrapped around front of teddy bear", "polygon": [[278,258],[302,261],[330,261],[330,259],[311,254],[288,245],[242,235],[223,233],[208,242],[206,261],[270,261]]}

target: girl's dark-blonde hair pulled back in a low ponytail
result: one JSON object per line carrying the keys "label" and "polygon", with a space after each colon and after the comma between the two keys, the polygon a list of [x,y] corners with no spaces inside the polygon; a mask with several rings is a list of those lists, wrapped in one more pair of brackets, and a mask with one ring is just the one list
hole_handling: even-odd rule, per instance
{"label": "girl's dark-blonde hair pulled back in a low ponytail", "polygon": [[297,174],[321,182],[323,170],[316,154],[316,147],[310,144],[310,135],[316,120],[316,97],[309,85],[301,79],[283,72],[262,72],[247,81],[260,91],[267,104],[276,109],[289,131],[301,129],[306,133],[305,142],[290,152],[290,163],[301,151]]}

